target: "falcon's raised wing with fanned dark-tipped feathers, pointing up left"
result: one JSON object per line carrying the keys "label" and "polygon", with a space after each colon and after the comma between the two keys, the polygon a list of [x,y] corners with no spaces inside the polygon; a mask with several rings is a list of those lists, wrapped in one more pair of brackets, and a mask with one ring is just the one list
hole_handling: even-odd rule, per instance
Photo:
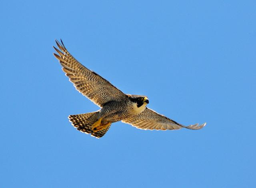
{"label": "falcon's raised wing with fanned dark-tipped feathers, pointing up left", "polygon": [[102,107],[106,102],[115,100],[124,100],[127,96],[118,88],[110,84],[108,80],[100,75],[90,71],[79,63],[66,49],[64,44],[56,40],[59,47],[54,47],[59,55],[54,53],[54,56],[62,65],[62,70],[66,72],[70,82],[74,83],[76,90],[90,99],[92,102]]}

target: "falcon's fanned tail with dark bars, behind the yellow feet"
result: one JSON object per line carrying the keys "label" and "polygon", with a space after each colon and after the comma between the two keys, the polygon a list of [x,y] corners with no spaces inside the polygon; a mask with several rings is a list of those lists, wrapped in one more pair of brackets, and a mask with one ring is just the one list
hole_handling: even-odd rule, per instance
{"label": "falcon's fanned tail with dark bars, behind the yellow feet", "polygon": [[103,137],[108,131],[111,123],[105,129],[102,129],[100,131],[93,131],[92,125],[98,120],[96,116],[97,113],[98,111],[86,114],[70,115],[68,116],[68,119],[78,131],[84,132],[86,134],[91,134],[91,136],[96,138],[100,138]]}

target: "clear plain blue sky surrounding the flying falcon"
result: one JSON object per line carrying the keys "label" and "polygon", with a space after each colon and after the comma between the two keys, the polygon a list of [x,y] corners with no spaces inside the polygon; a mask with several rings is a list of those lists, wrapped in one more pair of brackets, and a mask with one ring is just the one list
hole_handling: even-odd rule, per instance
{"label": "clear plain blue sky surrounding the flying falcon", "polygon": [[[1,187],[253,187],[256,1],[3,1]],[[68,115],[98,110],[54,39],[125,93],[193,131],[114,123],[101,139]]]}

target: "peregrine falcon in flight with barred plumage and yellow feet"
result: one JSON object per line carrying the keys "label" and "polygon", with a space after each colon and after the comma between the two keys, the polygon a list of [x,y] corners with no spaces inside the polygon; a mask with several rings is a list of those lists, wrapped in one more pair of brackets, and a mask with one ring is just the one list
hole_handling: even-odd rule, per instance
{"label": "peregrine falcon in flight with barred plumage and yellow feet", "polygon": [[90,71],[79,63],[66,49],[62,40],[56,40],[59,49],[54,47],[54,56],[59,60],[62,70],[80,93],[100,107],[96,112],[68,116],[77,130],[100,138],[108,131],[111,123],[122,121],[138,129],[174,130],[201,129],[206,125],[184,126],[172,119],[147,108],[147,96],[124,94],[108,80]]}

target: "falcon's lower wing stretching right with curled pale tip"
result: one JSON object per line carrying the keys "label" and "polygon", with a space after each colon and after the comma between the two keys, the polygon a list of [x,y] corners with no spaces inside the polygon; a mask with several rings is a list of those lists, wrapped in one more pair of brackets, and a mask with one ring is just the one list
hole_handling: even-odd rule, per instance
{"label": "falcon's lower wing stretching right with curled pale tip", "polygon": [[158,114],[154,110],[146,108],[144,112],[140,113],[138,116],[123,119],[122,122],[129,123],[138,129],[150,129],[150,130],[173,130],[181,129],[182,127],[187,129],[202,129],[206,123],[202,125],[194,124],[189,126],[181,125],[172,119],[169,119],[163,115]]}

